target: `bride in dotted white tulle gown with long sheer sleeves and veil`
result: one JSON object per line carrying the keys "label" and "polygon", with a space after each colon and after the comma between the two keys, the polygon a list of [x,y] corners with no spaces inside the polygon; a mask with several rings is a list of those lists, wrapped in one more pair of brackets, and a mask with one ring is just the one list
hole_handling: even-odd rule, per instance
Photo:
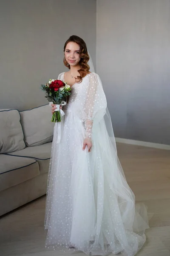
{"label": "bride in dotted white tulle gown with long sheer sleeves and veil", "polygon": [[54,126],[45,247],[134,256],[146,241],[147,207],[135,205],[117,157],[102,82],[82,38],[71,36],[64,55],[69,71],[58,79],[71,86],[72,94],[62,122]]}

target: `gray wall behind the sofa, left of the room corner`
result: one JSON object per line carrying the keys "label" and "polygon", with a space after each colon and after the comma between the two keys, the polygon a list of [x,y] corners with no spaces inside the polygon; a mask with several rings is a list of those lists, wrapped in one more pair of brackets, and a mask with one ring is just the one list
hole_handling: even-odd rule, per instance
{"label": "gray wall behind the sofa, left of the room corner", "polygon": [[95,0],[0,1],[0,108],[48,103],[40,84],[67,70],[70,35],[82,37],[96,58]]}

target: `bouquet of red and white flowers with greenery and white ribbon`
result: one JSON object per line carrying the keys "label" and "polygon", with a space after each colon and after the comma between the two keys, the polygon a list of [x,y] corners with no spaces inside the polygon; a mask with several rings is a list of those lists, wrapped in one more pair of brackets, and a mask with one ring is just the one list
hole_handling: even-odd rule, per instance
{"label": "bouquet of red and white flowers with greenery and white ribbon", "polygon": [[50,79],[48,83],[41,84],[41,89],[46,92],[45,98],[49,102],[56,104],[55,112],[53,113],[51,122],[61,122],[64,112],[61,106],[66,104],[67,96],[71,95],[71,87],[61,80]]}

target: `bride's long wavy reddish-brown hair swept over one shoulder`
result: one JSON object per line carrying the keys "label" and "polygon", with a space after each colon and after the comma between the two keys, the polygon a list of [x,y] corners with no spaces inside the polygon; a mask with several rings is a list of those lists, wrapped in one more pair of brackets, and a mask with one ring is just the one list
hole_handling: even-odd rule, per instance
{"label": "bride's long wavy reddish-brown hair swept over one shoulder", "polygon": [[[82,38],[80,38],[77,35],[71,35],[68,38],[68,40],[65,42],[64,52],[65,52],[65,48],[66,48],[66,46],[69,42],[74,42],[74,43],[76,43],[80,46],[79,65],[80,65],[81,68],[78,70],[80,76],[77,76],[78,77],[77,79],[79,79],[78,82],[81,82],[82,78],[85,77],[89,73],[89,70],[90,70],[90,67],[88,66],[88,61],[89,61],[88,49],[87,49],[87,46],[85,44],[85,41]],[[63,61],[64,61],[65,66],[70,69],[70,64],[68,64],[65,57],[64,57]]]}

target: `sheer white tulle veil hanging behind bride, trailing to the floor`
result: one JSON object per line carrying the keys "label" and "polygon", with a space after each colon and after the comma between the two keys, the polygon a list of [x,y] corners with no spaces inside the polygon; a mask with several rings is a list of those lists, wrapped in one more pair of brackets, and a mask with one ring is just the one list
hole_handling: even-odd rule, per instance
{"label": "sheer white tulle veil hanging behind bride, trailing to the floor", "polygon": [[[95,73],[93,61],[89,52],[88,55],[90,57],[88,61],[90,71]],[[119,158],[117,156],[116,142],[113,133],[111,116],[107,107],[105,109],[104,118],[100,121],[99,125],[103,127],[103,129],[101,128],[101,131],[107,131],[110,139],[110,141],[107,141],[106,143],[104,140],[102,147],[109,148],[108,151],[106,150],[107,152],[105,152],[105,156],[103,159],[105,159],[105,162],[107,162],[109,165],[109,168],[108,166],[106,166],[106,169],[112,170],[110,172],[110,177],[108,179],[108,185],[112,191],[116,192],[116,199],[118,204],[115,205],[115,208],[119,207],[122,222],[127,232],[127,241],[134,242],[134,239],[132,239],[132,237],[135,237],[136,239],[136,244],[132,242],[133,249],[127,245],[127,248],[125,248],[123,251],[120,251],[122,251],[123,255],[126,255],[126,253],[127,255],[135,255],[146,241],[146,236],[144,232],[146,229],[149,228],[147,206],[143,203],[135,204],[135,195],[133,194],[133,191],[127,184],[125,174],[123,172],[121,163],[119,162]],[[107,135],[103,134],[103,137],[104,136],[107,137]]]}

